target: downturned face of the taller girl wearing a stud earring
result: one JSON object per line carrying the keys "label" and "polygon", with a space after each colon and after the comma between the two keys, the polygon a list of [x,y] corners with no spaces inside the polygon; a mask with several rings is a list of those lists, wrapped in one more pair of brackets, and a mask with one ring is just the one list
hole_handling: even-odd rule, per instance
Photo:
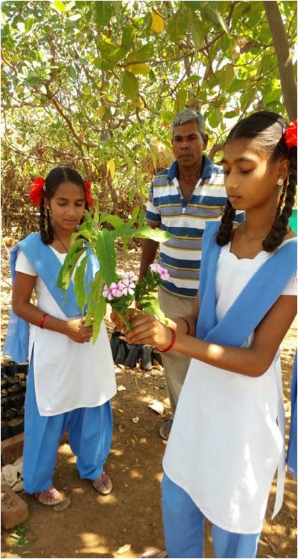
{"label": "downturned face of the taller girl wearing a stud earring", "polygon": [[288,160],[269,161],[260,145],[248,138],[237,138],[223,150],[223,173],[227,196],[234,209],[276,208],[278,179],[288,177]]}

